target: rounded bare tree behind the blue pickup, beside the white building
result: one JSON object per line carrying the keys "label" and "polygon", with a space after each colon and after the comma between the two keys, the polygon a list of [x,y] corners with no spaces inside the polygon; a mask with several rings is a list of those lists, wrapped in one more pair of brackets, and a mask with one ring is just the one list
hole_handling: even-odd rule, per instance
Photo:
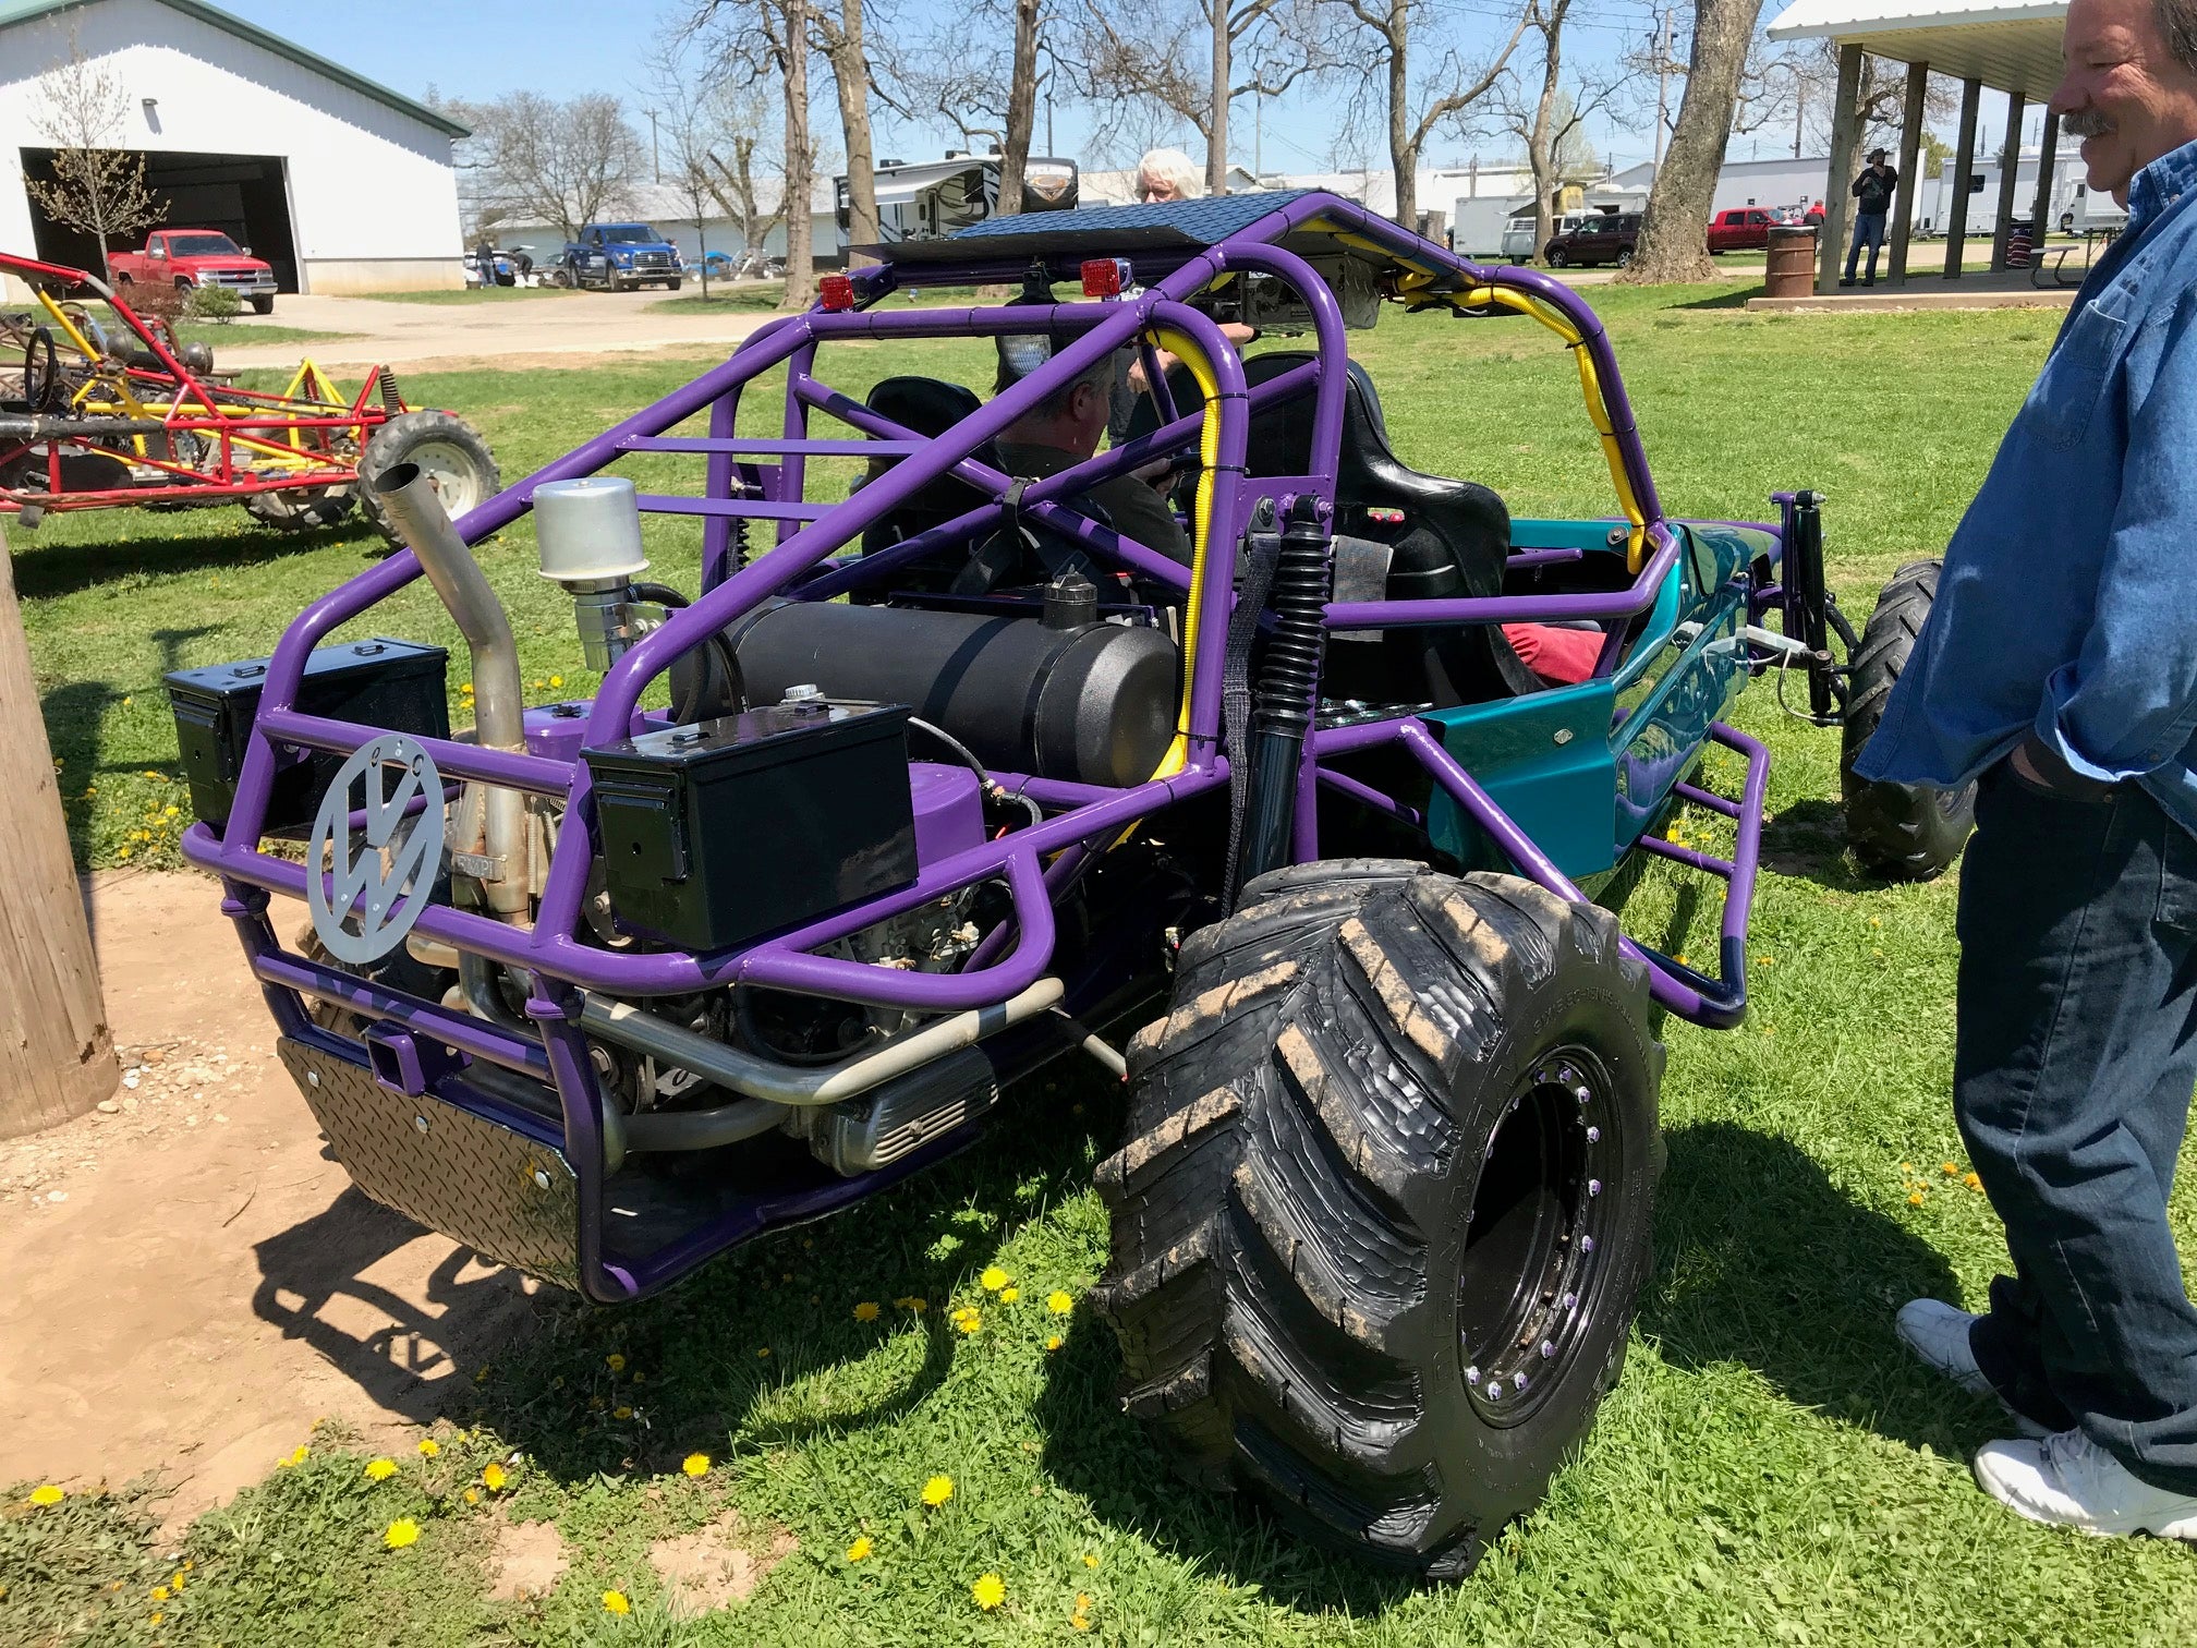
{"label": "rounded bare tree behind the blue pickup, beside the white building", "polygon": [[477,231],[556,224],[573,240],[584,224],[631,202],[642,141],[606,92],[569,103],[510,92],[494,103],[444,101],[437,108],[472,127],[459,152],[459,178]]}

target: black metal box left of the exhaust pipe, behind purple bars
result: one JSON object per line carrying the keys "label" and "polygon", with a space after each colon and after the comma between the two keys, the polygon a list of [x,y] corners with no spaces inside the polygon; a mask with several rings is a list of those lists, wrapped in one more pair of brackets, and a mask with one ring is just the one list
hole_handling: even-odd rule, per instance
{"label": "black metal box left of the exhaust pipe, behind purple bars", "polygon": [[[409,732],[415,738],[448,738],[450,701],[444,690],[448,659],[439,646],[380,637],[316,646],[297,686],[297,710],[384,732]],[[264,657],[174,670],[167,677],[167,703],[176,712],[176,743],[182,745],[191,809],[213,828],[228,824],[228,806],[237,798],[237,776],[244,771],[244,751],[250,747],[253,716],[259,712],[259,688],[266,679]],[[312,824],[338,767],[343,756],[325,749],[281,767],[275,773],[275,793],[268,798],[266,831],[272,835]]]}

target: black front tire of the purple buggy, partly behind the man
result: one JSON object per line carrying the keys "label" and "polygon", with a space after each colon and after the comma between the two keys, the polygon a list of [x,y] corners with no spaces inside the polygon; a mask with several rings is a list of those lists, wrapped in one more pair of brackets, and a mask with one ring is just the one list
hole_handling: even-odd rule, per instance
{"label": "black front tire of the purple buggy, partly behind the man", "polygon": [[1872,782],[1854,773],[1861,747],[1885,719],[1885,699],[1907,668],[1922,620],[1938,600],[1942,560],[1911,560],[1892,574],[1876,598],[1854,648],[1839,749],[1839,789],[1845,798],[1845,839],[1865,870],[1892,881],[1929,881],[1940,875],[1975,828],[1975,784]]}

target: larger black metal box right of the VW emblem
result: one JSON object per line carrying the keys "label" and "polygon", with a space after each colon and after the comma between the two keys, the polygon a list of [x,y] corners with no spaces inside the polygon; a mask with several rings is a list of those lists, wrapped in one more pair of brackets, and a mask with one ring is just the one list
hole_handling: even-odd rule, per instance
{"label": "larger black metal box right of the VW emblem", "polygon": [[916,879],[907,708],[776,703],[582,751],[611,910],[729,949]]}

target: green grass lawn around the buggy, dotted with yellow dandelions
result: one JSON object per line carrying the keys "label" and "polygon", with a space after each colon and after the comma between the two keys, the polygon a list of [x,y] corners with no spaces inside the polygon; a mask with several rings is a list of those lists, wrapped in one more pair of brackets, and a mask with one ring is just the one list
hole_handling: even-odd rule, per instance
{"label": "green grass lawn around the buggy, dotted with yellow dandelions", "polygon": [[[1773,488],[1821,488],[1832,582],[1867,611],[1896,563],[1942,549],[2054,316],[1751,316],[1738,290],[1593,292],[1663,499],[1676,514],[1760,519]],[[1518,514],[1608,510],[1577,380],[1531,323],[1391,314],[1353,343],[1406,461],[1490,481]],[[991,352],[855,345],[819,367],[859,393],[910,369],[980,382]],[[426,376],[417,393],[466,409],[505,475],[521,475],[683,374]],[[751,393],[745,415],[767,420],[767,396]],[[648,459],[642,486],[666,486],[679,461]],[[846,479],[819,466],[813,494]],[[657,576],[692,584],[692,530],[648,532]],[[55,519],[18,536],[88,864],[123,846],[167,859],[171,828],[132,842],[147,806],[174,795],[143,778],[174,771],[158,672],[266,650],[369,547],[356,530],[272,538],[233,510]],[[538,697],[587,690],[527,530],[492,543],[486,565]],[[455,644],[420,589],[376,626]],[[1118,1360],[1083,1290],[1105,1259],[1088,1176],[1118,1138],[1120,1092],[1061,1068],[1017,1096],[1028,1121],[830,1224],[754,1244],[631,1310],[554,1303],[468,1384],[437,1433],[446,1457],[406,1455],[391,1483],[369,1485],[360,1455],[316,1437],[303,1466],[167,1545],[127,1492],[29,1510],[13,1490],[0,1644],[1057,1644],[1083,1639],[1070,1626],[1079,1593],[1090,1639],[1109,1644],[2197,1639],[2188,1551],[2054,1534],[1993,1507],[1964,1459],[1999,1422],[1894,1343],[1903,1299],[1975,1303],[2006,1263],[1984,1198],[1940,1171],[1969,1165],[1947,1105],[1955,881],[1861,877],[1841,848],[1834,734],[1780,716],[1764,688],[1738,723],[1777,758],[1753,1015],[1731,1033],[1661,1026],[1670,1171],[1624,1382],[1547,1505],[1470,1582],[1415,1593],[1279,1536],[1182,1488],[1118,1413]],[[1689,820],[1696,835],[1711,826]],[[1657,866],[1626,923],[1709,951],[1716,903]],[[2197,1151],[2175,1202],[2186,1252],[2193,1176]],[[1017,1303],[980,1288],[991,1263],[1013,1272]],[[1077,1301],[1066,1318],[1044,1303],[1055,1288]],[[890,1303],[903,1296],[927,1310]],[[881,1316],[857,1321],[861,1301]],[[982,1305],[980,1334],[947,1325],[960,1303]],[[521,1463],[501,1514],[556,1521],[567,1538],[573,1567],[547,1602],[483,1600],[499,1512],[466,1505],[457,1481],[503,1450]],[[716,1461],[699,1483],[679,1472],[690,1450]],[[934,1472],[956,1492],[925,1512],[916,1496]],[[672,1622],[646,1547],[727,1505],[800,1549],[747,1604]],[[406,1551],[382,1547],[393,1516],[424,1529]],[[848,1562],[857,1536],[874,1549]],[[182,1597],[149,1602],[185,1560]],[[991,1615],[969,1595],[982,1573],[1006,1582]],[[123,1591],[103,1589],[114,1580]],[[602,1608],[606,1589],[633,1600],[631,1617]]]}

